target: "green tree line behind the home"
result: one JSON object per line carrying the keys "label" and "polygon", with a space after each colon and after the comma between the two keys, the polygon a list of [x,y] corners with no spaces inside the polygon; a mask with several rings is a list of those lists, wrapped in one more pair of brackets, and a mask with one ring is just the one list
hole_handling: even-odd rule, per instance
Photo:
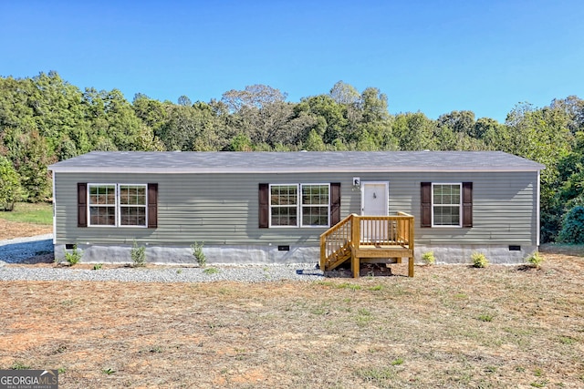
{"label": "green tree line behind the home", "polygon": [[92,150],[501,150],[546,165],[541,175],[543,241],[584,202],[584,100],[519,103],[504,123],[468,110],[437,119],[391,114],[376,87],[339,81],[326,94],[288,102],[254,85],[220,99],[176,103],[120,90],[81,90],[57,72],[0,77],[0,207],[51,196],[47,165]]}

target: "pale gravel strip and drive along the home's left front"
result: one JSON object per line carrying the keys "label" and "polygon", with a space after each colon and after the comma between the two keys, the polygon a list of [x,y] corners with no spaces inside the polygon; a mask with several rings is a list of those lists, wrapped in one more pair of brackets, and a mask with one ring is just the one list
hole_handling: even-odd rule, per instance
{"label": "pale gravel strip and drive along the home's left front", "polygon": [[[102,270],[75,267],[6,267],[25,263],[37,255],[53,252],[52,234],[0,241],[0,281],[117,281],[117,282],[269,282],[316,281],[323,272],[314,263],[295,265],[207,266],[206,268],[158,266]],[[210,270],[213,269],[213,270]]]}

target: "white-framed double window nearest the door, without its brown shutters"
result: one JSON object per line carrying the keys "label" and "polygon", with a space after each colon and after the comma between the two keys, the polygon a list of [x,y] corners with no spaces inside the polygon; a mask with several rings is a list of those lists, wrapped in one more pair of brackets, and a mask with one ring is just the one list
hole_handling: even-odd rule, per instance
{"label": "white-framed double window nearest the door, without its brown shutters", "polygon": [[269,186],[269,227],[328,227],[329,184]]}

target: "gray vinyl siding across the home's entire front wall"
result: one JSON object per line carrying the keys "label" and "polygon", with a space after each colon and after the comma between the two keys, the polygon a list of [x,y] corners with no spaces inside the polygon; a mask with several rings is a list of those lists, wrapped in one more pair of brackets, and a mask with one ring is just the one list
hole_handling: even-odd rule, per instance
{"label": "gray vinyl siding across the home's entire front wall", "polygon": [[[56,172],[56,241],[149,245],[318,245],[325,228],[258,228],[258,184],[341,183],[341,218],[360,214],[354,174],[98,174]],[[360,173],[363,181],[389,181],[390,212],[416,219],[421,244],[535,245],[537,172]],[[473,228],[420,228],[420,183],[473,182]],[[77,184],[158,183],[158,228],[77,227]]]}

